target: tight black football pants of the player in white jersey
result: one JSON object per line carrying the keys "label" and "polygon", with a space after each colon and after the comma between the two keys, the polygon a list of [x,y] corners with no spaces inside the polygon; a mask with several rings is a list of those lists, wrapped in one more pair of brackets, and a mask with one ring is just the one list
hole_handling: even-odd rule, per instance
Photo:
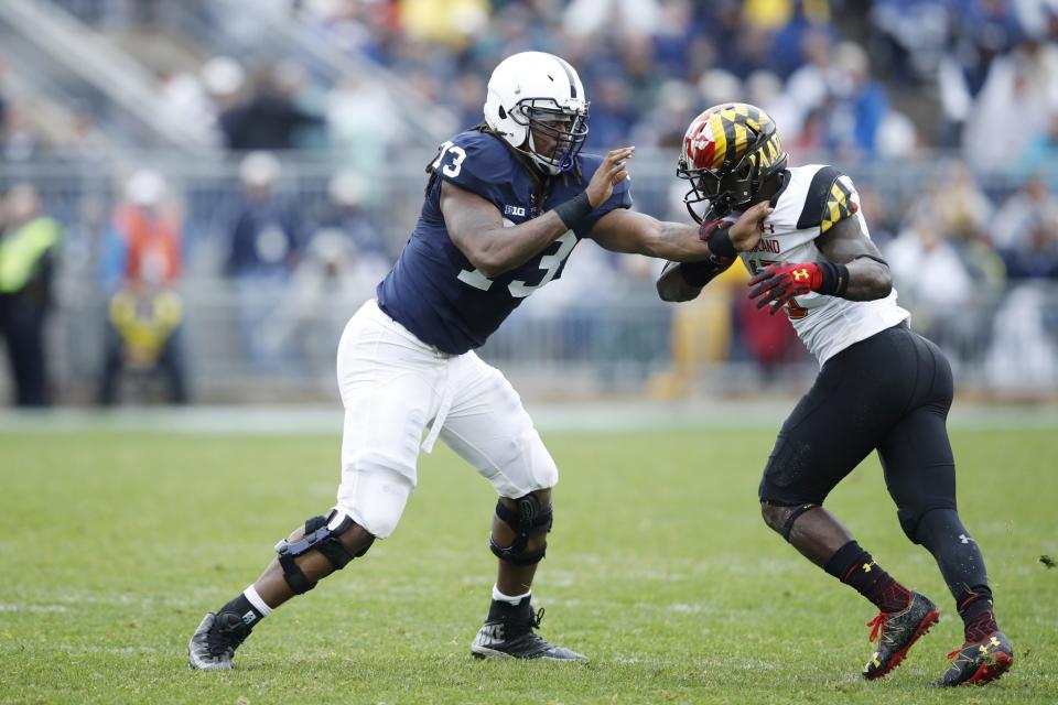
{"label": "tight black football pants of the player in white jersey", "polygon": [[956,509],[946,420],[951,367],[902,323],[830,358],[782,424],[760,481],[775,505],[821,505],[877,449],[905,533],[933,509]]}

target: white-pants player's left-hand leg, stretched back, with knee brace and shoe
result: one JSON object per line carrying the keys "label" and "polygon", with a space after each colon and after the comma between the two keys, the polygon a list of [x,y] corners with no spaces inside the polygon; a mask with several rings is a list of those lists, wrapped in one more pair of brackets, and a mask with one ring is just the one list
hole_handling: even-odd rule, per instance
{"label": "white-pants player's left-hand leg, stretched back, with knee brace and shoe", "polygon": [[241,594],[207,614],[192,637],[192,668],[231,668],[253,627],[295,595],[364,555],[397,525],[415,486],[419,441],[440,403],[443,362],[366,305],[338,346],[345,405],[342,484],[327,517],[313,517],[277,544],[279,556]]}

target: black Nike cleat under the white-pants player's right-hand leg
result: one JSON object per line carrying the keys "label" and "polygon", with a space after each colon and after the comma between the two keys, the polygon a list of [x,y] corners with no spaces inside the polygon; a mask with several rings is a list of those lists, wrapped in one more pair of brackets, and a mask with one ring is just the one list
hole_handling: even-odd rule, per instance
{"label": "black Nike cleat under the white-pants player's right-hand leg", "polygon": [[[544,659],[547,661],[587,661],[587,657],[544,641],[533,630],[540,627],[543,608],[536,614],[528,604],[508,609],[489,609],[488,619],[471,643],[475,659]],[[504,606],[509,607],[509,606]],[[506,614],[505,614],[506,612]]]}

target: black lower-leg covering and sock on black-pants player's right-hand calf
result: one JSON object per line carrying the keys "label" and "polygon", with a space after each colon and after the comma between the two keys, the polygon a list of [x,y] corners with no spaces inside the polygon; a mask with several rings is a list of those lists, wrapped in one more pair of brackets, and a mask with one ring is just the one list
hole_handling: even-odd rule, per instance
{"label": "black lower-leg covering and sock on black-pants player's right-hand calf", "polygon": [[[935,509],[918,522],[915,539],[933,554],[940,574],[956,598],[956,608],[962,617],[968,641],[971,631],[976,636],[981,629],[996,630],[992,614],[992,589],[984,568],[984,557],[976,542],[962,525],[954,509]],[[987,617],[983,615],[987,612]],[[980,622],[980,623],[979,623]],[[974,625],[971,629],[971,625]],[[983,638],[983,637],[982,637]]]}

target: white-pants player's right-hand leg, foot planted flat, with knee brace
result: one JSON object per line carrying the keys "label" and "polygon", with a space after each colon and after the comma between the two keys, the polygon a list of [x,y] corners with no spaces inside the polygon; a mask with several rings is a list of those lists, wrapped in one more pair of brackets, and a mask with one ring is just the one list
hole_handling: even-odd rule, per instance
{"label": "white-pants player's right-hand leg, foot planted flat, with knee brace", "polygon": [[460,360],[457,394],[441,437],[493,482],[499,499],[489,546],[498,558],[488,616],[471,646],[478,658],[515,657],[580,661],[533,630],[532,579],[551,530],[551,487],[558,469],[518,393],[499,370],[473,352]]}

